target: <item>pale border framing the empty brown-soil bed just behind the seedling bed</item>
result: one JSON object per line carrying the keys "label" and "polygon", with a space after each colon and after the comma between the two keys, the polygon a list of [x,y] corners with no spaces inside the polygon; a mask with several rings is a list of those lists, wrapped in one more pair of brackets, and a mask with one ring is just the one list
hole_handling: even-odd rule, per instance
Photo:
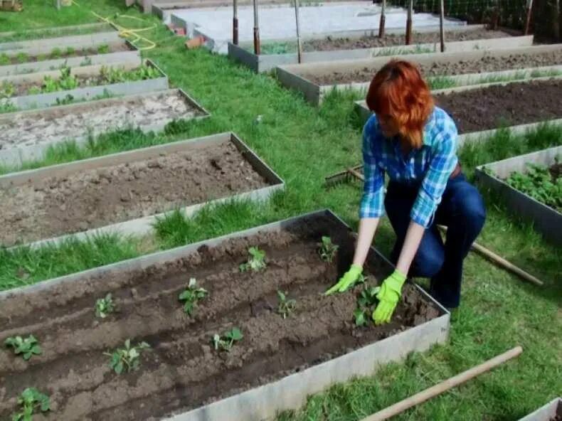
{"label": "pale border framing the empty brown-soil bed just behind the seedling bed", "polygon": [[[283,181],[282,178],[280,178],[280,176],[278,176],[275,171],[270,168],[270,166],[267,166],[267,164],[265,164],[265,162],[260,159],[260,157],[256,155],[255,152],[250,149],[242,140],[240,140],[240,138],[236,134],[233,134],[231,132],[213,134],[211,136],[198,137],[196,139],[187,139],[180,142],[149,146],[147,148],[135,149],[133,151],[125,151],[117,154],[100,156],[97,158],[73,161],[67,164],[46,166],[41,169],[33,169],[7,174],[5,176],[0,176],[0,188],[18,188],[18,186],[27,185],[28,183],[41,183],[43,179],[48,177],[67,177],[72,174],[80,174],[81,172],[87,170],[99,169],[105,166],[117,164],[127,164],[129,162],[144,159],[157,158],[159,156],[163,156],[166,154],[175,154],[181,151],[203,149],[208,146],[221,144],[223,142],[231,142],[236,147],[236,149],[240,151],[244,159],[248,161],[251,166],[253,166],[254,171],[265,178],[265,180],[267,180],[269,186],[256,188],[254,190],[245,191],[243,193],[237,193],[225,198],[213,199],[211,201],[206,201],[203,203],[195,203],[193,205],[181,208],[181,212],[186,216],[193,215],[193,213],[195,213],[197,210],[210,203],[222,203],[230,200],[243,199],[256,201],[266,200],[275,191],[280,191],[285,188],[285,181]],[[36,249],[43,245],[59,244],[64,240],[67,240],[68,238],[83,240],[92,235],[108,233],[134,236],[148,235],[149,233],[152,233],[152,230],[154,229],[154,223],[156,223],[159,218],[164,217],[165,214],[166,213],[159,213],[157,215],[149,215],[143,218],[127,220],[121,223],[112,223],[110,225],[105,225],[104,227],[100,228],[93,228],[82,233],[60,235],[59,237],[55,238],[34,241],[33,243],[28,243],[24,246]],[[21,247],[21,245],[15,245],[11,248],[17,247]]]}

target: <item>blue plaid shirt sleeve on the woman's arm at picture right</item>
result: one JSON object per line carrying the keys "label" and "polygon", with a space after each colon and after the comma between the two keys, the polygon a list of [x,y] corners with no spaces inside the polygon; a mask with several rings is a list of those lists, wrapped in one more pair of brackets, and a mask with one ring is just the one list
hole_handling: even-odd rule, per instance
{"label": "blue plaid shirt sleeve on the woman's arm at picture right", "polygon": [[428,172],[420,186],[418,197],[415,199],[410,218],[424,228],[433,223],[433,215],[441,196],[447,186],[447,181],[457,165],[457,127],[447,114],[440,116],[437,132],[433,134],[432,157]]}

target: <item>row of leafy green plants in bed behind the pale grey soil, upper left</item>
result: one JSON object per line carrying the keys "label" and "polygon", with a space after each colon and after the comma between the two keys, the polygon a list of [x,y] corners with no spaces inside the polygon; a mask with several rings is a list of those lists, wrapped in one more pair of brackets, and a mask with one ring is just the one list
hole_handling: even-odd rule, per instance
{"label": "row of leafy green plants in bed behind the pale grey soil, upper left", "polygon": [[59,78],[45,76],[41,85],[33,85],[26,90],[18,90],[14,82],[4,81],[0,85],[0,100],[14,97],[16,95],[38,95],[61,90],[73,90],[80,86],[112,85],[121,82],[134,82],[136,80],[148,80],[160,78],[161,73],[157,68],[149,65],[141,65],[134,70],[123,68],[112,68],[102,66],[100,73],[96,76],[76,76],[71,73],[71,68],[60,69]]}

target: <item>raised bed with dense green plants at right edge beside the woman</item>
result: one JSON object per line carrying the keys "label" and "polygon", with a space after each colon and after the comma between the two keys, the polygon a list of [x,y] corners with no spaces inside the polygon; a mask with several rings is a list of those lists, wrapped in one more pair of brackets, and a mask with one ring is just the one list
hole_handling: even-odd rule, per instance
{"label": "raised bed with dense green plants at right edge beside the woman", "polygon": [[[545,238],[561,245],[561,161],[562,146],[556,146],[479,166],[476,176],[482,185],[504,198],[511,213],[530,220]],[[548,173],[537,174],[540,171],[535,166],[548,169]]]}

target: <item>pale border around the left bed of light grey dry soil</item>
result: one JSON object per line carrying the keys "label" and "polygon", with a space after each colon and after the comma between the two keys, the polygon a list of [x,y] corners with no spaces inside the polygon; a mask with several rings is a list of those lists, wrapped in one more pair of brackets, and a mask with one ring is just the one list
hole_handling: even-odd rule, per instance
{"label": "pale border around the left bed of light grey dry soil", "polygon": [[[60,115],[61,112],[67,114],[76,114],[81,112],[83,109],[88,109],[91,105],[117,105],[121,102],[127,102],[129,100],[134,100],[137,97],[148,97],[152,95],[181,95],[184,98],[184,101],[188,103],[191,107],[195,108],[199,112],[202,113],[201,116],[193,117],[193,119],[204,119],[209,117],[211,114],[201,107],[201,105],[193,100],[191,96],[189,96],[184,90],[181,89],[171,89],[171,90],[164,90],[159,92],[144,92],[142,94],[137,95],[127,95],[125,97],[117,97],[117,98],[108,98],[107,100],[98,100],[98,101],[91,101],[91,102],[80,102],[78,104],[71,104],[71,105],[59,105],[56,107],[49,107],[42,110],[28,110],[28,111],[21,111],[21,112],[10,112],[6,114],[0,114],[0,124],[2,122],[9,122],[11,119],[17,119],[22,115],[32,115],[37,116],[37,118],[41,118],[46,114],[54,114]],[[137,126],[143,132],[162,132],[167,124],[174,120],[164,120],[159,122],[158,124],[141,124]],[[86,142],[91,135],[101,134],[102,132],[107,132],[108,130],[117,130],[122,127],[127,127],[127,122],[122,123],[123,126],[116,126],[116,127],[102,127],[99,131],[95,131],[91,127],[84,127],[83,133],[79,136],[72,137],[70,139],[61,139],[58,142],[51,142],[48,144],[36,144],[31,146],[18,146],[9,149],[0,149],[0,164],[4,166],[21,166],[26,161],[36,161],[43,159],[46,152],[51,146],[55,146],[57,144],[62,144],[69,140],[74,141],[78,146],[82,146]]]}

